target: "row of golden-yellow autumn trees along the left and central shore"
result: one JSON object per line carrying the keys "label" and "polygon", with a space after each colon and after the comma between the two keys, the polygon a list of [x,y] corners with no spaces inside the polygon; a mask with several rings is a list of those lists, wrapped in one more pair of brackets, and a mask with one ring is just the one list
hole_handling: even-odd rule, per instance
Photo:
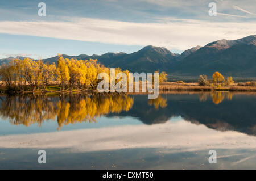
{"label": "row of golden-yellow autumn trees along the left and central shore", "polygon": [[[0,67],[0,78],[9,90],[46,90],[50,84],[57,84],[60,90],[74,87],[77,89],[96,89],[99,73],[105,72],[110,77],[110,69],[97,60],[74,60],[59,55],[57,65],[45,64],[42,60],[15,59]],[[123,72],[129,77],[129,70],[115,68],[115,75]],[[167,74],[159,75],[159,82],[166,81]],[[116,82],[119,81],[115,80]]]}

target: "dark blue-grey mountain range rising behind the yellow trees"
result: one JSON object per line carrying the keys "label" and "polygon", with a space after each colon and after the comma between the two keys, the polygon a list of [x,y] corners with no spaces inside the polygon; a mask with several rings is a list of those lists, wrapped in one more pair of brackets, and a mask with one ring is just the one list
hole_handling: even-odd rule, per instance
{"label": "dark blue-grey mountain range rising behind the yellow trees", "polygon": [[[164,47],[146,46],[134,53],[105,53],[88,56],[68,56],[77,60],[97,59],[101,64],[114,68],[128,69],[131,72],[166,71],[169,75],[198,76],[212,75],[220,71],[225,76],[256,77],[256,35],[238,40],[218,40],[204,47],[196,46],[181,54],[170,52]],[[3,58],[0,65],[14,57]],[[24,57],[18,57],[24,58]],[[58,56],[44,59],[44,62],[57,62]]]}

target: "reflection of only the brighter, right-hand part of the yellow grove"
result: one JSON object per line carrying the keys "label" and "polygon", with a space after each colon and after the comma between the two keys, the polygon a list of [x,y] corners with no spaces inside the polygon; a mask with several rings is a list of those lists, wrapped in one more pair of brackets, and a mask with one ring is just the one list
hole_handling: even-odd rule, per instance
{"label": "reflection of only the brighter, right-hand part of the yellow grove", "polygon": [[129,111],[133,106],[133,98],[127,95],[113,95],[85,96],[82,99],[77,99],[72,96],[69,102],[60,100],[58,105],[57,122],[59,127],[62,127],[69,123],[96,122],[96,117],[101,115]]}

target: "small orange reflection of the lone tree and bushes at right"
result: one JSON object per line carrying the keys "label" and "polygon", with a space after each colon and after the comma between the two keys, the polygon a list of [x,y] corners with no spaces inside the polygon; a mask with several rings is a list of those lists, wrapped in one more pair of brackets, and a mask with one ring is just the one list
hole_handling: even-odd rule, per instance
{"label": "small orange reflection of the lone tree and bushes at right", "polygon": [[212,97],[212,102],[214,104],[220,104],[225,98],[228,100],[232,100],[233,98],[233,94],[231,92],[203,92],[199,94],[199,100],[201,102],[205,102],[208,95]]}

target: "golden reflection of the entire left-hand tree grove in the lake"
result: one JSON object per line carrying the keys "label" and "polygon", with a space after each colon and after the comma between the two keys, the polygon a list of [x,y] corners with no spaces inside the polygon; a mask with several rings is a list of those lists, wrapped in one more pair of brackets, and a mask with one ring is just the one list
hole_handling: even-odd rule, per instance
{"label": "golden reflection of the entire left-hand tree grove in the lake", "polygon": [[127,95],[11,96],[2,100],[0,114],[15,125],[27,127],[56,117],[60,128],[69,123],[96,121],[96,117],[108,113],[129,111],[132,106],[133,98]]}

